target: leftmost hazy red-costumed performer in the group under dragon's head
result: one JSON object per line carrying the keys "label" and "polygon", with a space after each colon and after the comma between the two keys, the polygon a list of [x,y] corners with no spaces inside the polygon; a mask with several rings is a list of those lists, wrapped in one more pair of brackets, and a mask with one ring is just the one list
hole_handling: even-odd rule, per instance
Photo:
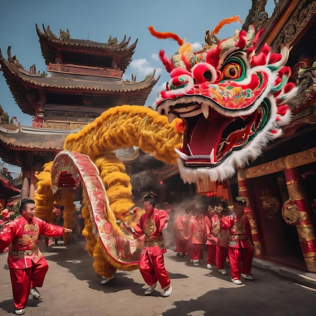
{"label": "leftmost hazy red-costumed performer in the group under dragon's head", "polygon": [[188,234],[189,223],[191,220],[191,211],[189,208],[185,209],[184,215],[179,215],[173,225],[174,237],[176,241],[177,256],[183,257],[188,252],[187,243],[185,238]]}

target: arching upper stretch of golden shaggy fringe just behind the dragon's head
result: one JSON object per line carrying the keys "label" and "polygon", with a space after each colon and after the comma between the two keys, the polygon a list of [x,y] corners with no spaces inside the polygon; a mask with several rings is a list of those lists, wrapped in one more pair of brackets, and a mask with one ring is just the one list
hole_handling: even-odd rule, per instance
{"label": "arching upper stretch of golden shaggy fringe just behind the dragon's head", "polygon": [[76,134],[67,136],[64,149],[96,157],[113,150],[137,146],[154,153],[156,159],[175,164],[183,134],[177,132],[180,119],[168,123],[166,116],[141,106],[120,106],[103,112]]}

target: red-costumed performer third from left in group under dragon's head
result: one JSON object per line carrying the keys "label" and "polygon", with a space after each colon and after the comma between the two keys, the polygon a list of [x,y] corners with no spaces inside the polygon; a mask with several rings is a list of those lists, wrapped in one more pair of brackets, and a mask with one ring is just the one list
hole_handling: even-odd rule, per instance
{"label": "red-costumed performer third from left in group under dragon's head", "polygon": [[212,270],[212,265],[215,266],[216,260],[216,245],[220,235],[220,217],[216,210],[208,205],[207,215],[204,217],[204,229],[206,234],[207,245],[207,269]]}

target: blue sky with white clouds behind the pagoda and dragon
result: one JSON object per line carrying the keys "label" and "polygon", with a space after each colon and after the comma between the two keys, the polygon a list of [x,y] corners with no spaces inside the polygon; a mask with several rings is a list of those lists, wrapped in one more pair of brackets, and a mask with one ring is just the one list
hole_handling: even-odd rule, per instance
{"label": "blue sky with white clouds behind the pagoda and dragon", "polygon": [[[11,46],[11,55],[17,57],[24,69],[36,64],[36,70],[47,71],[41,55],[35,24],[42,25],[59,36],[60,29],[69,29],[71,38],[108,42],[109,36],[119,41],[124,35],[131,37],[130,43],[138,39],[133,61],[127,68],[124,79],[136,74],[136,81],[142,81],[147,74],[156,70],[161,79],[148,96],[145,106],[153,106],[157,93],[165,87],[169,75],[157,58],[160,49],[166,56],[178,50],[178,44],[171,39],[157,39],[150,35],[148,26],[160,32],[173,32],[186,42],[197,46],[204,44],[205,30],[213,28],[223,19],[239,15],[244,22],[251,8],[251,0],[192,0],[148,1],[148,0],[1,0],[0,48],[4,58]],[[269,17],[274,10],[274,1],[268,0],[266,11]],[[233,35],[241,23],[224,26],[218,37]],[[17,106],[10,89],[0,76],[0,104],[9,117],[18,117],[22,126],[31,126],[32,117],[23,114]],[[10,168],[9,168],[10,171]]]}

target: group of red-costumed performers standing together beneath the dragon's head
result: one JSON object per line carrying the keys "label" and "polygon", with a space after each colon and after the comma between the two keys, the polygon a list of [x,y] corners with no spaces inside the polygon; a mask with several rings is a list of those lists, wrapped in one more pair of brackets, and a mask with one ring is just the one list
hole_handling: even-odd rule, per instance
{"label": "group of red-costumed performers standing together beneath the dragon's head", "polygon": [[207,269],[227,275],[228,261],[234,284],[241,285],[241,278],[253,280],[254,246],[248,217],[243,214],[247,204],[247,198],[236,197],[232,212],[223,200],[214,208],[209,205],[207,212],[186,208],[173,225],[177,255],[188,256],[191,264],[199,266],[207,250]]}

